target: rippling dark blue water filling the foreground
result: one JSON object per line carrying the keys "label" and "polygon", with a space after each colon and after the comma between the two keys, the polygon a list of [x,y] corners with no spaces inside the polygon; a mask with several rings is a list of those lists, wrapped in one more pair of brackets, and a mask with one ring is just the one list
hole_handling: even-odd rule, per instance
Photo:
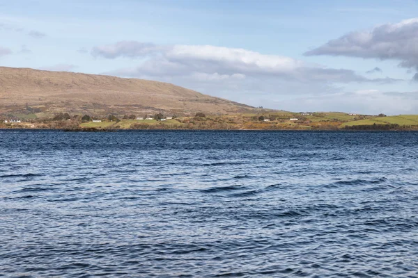
{"label": "rippling dark blue water filling the foreground", "polygon": [[417,132],[0,131],[0,276],[418,277]]}

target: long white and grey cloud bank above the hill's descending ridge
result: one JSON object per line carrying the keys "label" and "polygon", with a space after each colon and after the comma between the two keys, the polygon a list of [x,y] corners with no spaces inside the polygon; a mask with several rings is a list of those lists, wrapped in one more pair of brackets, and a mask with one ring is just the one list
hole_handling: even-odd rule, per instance
{"label": "long white and grey cloud bank above the hill's descending ridge", "polygon": [[394,79],[367,79],[352,70],[310,65],[286,56],[260,54],[247,49],[212,45],[157,45],[147,42],[121,41],[93,47],[91,54],[107,59],[140,60],[136,68],[112,74],[164,79],[189,76],[200,80],[215,79],[282,79],[302,83],[393,82]]}

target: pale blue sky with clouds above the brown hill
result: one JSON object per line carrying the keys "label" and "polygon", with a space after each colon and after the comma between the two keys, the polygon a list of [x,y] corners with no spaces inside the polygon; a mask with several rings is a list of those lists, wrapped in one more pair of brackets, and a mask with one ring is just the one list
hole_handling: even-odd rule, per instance
{"label": "pale blue sky with clouds above the brown hill", "polygon": [[286,111],[418,114],[418,0],[0,0],[0,66]]}

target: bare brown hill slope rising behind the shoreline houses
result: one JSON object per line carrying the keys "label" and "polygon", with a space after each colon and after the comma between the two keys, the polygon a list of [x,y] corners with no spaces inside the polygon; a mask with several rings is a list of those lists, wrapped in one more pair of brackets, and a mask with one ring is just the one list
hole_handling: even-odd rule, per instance
{"label": "bare brown hill slope rising behind the shoreline houses", "polygon": [[73,113],[242,113],[251,106],[170,83],[115,76],[0,67],[0,110],[41,107]]}

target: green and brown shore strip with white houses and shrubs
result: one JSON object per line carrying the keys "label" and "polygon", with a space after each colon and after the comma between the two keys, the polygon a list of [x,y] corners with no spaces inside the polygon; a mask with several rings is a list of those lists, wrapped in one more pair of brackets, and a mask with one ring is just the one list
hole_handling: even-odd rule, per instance
{"label": "green and brown shore strip with white houses and shrubs", "polygon": [[264,113],[176,117],[155,115],[70,115],[17,120],[5,117],[1,129],[62,129],[114,131],[118,129],[169,130],[418,130],[418,115],[378,116],[347,113]]}

